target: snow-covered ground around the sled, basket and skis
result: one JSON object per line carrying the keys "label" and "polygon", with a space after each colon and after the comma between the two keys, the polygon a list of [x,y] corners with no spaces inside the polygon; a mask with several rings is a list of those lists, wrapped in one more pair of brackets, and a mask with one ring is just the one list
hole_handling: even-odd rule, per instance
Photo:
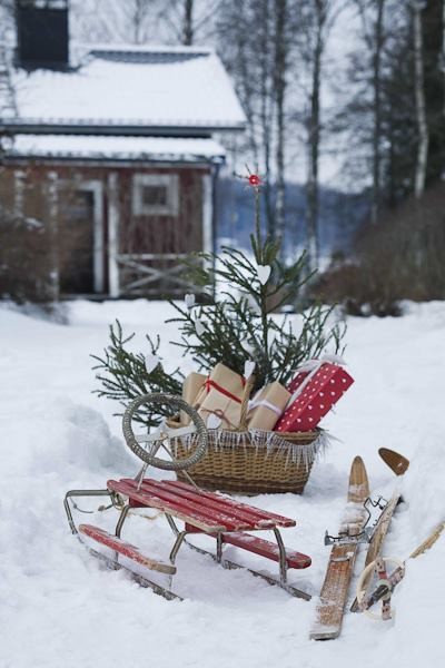
{"label": "snow-covered ground around the sled, basket and skis", "polygon": [[[407,308],[402,318],[349,320],[346,358],[356,382],[324,421],[338,441],[314,466],[304,495],[251,500],[297,519],[284,538],[310,554],[313,566],[291,571],[291,581],[314,599],[290,598],[184,549],[174,590],[186,600],[168,602],[125,573],[102,569],[70,534],[62,499],[69,489],[100,488],[109,478],[137,471],[120,420],[112,416],[118,406],[91,394],[97,381],[89,354],[107,345],[108,324],[116,317],[137,333],[136,350],[144,348],[146,332],[159,332],[168,342],[174,337],[164,324],[169,306],[73,302],[69,325],[1,307],[0,667],[444,665],[445,536],[408,562],[394,596],[394,621],[347,613],[337,640],[308,640],[329,553],[324,532],[337,530],[356,454],[365,460],[373,491],[386,498],[397,481],[378,448],[397,450],[412,462],[386,556],[406,558],[445,518],[445,303]],[[164,352],[174,367],[178,352],[167,343]],[[126,537],[165,558],[171,547],[161,520],[132,518]],[[275,566],[237,557],[268,570]]]}

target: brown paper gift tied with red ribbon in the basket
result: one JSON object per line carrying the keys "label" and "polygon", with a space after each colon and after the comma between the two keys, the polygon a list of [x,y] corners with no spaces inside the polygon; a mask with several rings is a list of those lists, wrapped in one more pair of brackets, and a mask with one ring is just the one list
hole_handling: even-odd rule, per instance
{"label": "brown paper gift tied with red ribbon in the basket", "polygon": [[238,428],[245,384],[243,376],[224,364],[211,370],[197,397],[198,413],[209,429]]}

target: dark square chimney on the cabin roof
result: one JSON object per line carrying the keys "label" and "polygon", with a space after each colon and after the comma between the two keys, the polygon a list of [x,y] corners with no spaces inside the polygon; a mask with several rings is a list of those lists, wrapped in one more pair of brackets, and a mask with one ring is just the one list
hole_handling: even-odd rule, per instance
{"label": "dark square chimney on the cabin roof", "polygon": [[68,69],[68,0],[16,0],[16,22],[19,67]]}

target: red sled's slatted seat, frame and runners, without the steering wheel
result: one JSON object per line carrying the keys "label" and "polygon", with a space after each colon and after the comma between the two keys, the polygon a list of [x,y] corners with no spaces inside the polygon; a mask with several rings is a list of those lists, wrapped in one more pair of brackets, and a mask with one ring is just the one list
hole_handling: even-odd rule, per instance
{"label": "red sled's slatted seat, frame and runners, without the steering wheel", "polygon": [[[70,500],[72,502],[76,497],[108,497],[110,505],[101,507],[99,510],[106,510],[110,507],[119,510],[115,534],[91,524],[79,524],[79,527],[76,527],[70,508]],[[126,519],[132,509],[140,508],[158,510],[166,517],[175,534],[175,542],[168,562],[146,557],[137,547],[122,540],[121,532]],[[278,584],[291,596],[310,600],[308,593],[289,584],[287,581],[288,569],[304,569],[310,566],[310,557],[300,552],[286,550],[284,546],[280,529],[296,525],[296,521],[289,518],[239,503],[218,492],[202,491],[185,482],[172,480],[158,481],[150,478],[142,480],[109,480],[105,490],[71,490],[66,494],[65,509],[72,533],[77,534],[81,540],[83,537],[92,539],[96,543],[106,546],[113,552],[113,557],[107,557],[89,548],[95,557],[106,561],[110,568],[123,568],[130,571],[134,579],[140,584],[150,587],[156,593],[160,593],[167,599],[180,598],[170,590],[171,578],[176,573],[178,552],[182,544],[187,544],[200,553],[209,554],[225,568],[245,568],[251,574],[263,578],[268,583]],[[184,522],[184,529],[178,528],[178,521]],[[250,531],[265,530],[274,532],[275,542],[257,538],[249,533]],[[216,539],[216,553],[194,546],[187,540],[187,537],[197,533]],[[231,544],[278,562],[279,576],[275,578],[225,559],[225,544]],[[123,559],[122,563],[122,557],[148,570],[169,576],[170,581],[168,587],[164,588],[139,572],[132,571],[131,568],[126,566],[126,559]]]}

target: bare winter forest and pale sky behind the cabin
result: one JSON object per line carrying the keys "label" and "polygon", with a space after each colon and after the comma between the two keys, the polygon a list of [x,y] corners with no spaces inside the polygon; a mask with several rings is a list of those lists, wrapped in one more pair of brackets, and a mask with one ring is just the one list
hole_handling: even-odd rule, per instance
{"label": "bare winter forest and pale sky behind the cabin", "polygon": [[[0,0],[3,46],[12,8]],[[268,234],[304,246],[310,268],[343,253],[325,298],[355,286],[350,264],[389,302],[445,298],[445,0],[71,0],[70,10],[79,42],[217,49],[248,118],[227,145],[229,167],[264,177]],[[222,180],[219,196],[219,235],[245,244],[241,189]]]}

